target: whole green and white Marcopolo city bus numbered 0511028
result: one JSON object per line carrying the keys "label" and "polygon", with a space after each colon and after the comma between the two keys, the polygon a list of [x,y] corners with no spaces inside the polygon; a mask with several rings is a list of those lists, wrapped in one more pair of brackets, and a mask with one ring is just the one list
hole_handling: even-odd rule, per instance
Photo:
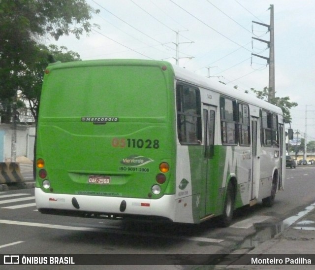
{"label": "whole green and white Marcopolo city bus numbered 0511028", "polygon": [[228,226],[284,188],[282,110],[163,61],[50,65],[36,145],[45,214]]}

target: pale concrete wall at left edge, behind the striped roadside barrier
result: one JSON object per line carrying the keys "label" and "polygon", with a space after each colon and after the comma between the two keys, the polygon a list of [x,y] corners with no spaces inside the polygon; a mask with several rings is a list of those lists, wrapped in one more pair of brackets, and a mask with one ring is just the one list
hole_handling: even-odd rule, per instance
{"label": "pale concrete wall at left edge, behind the striped roadside barrier", "polygon": [[[12,126],[0,124],[0,162],[11,158]],[[16,156],[34,159],[33,149],[35,141],[35,127],[17,125],[16,131]]]}

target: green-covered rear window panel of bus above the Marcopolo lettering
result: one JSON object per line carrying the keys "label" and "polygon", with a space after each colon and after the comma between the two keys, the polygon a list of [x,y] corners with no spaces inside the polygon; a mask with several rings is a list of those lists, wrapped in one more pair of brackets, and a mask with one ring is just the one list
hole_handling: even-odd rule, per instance
{"label": "green-covered rear window panel of bus above the Marcopolo lettering", "polygon": [[54,69],[46,78],[44,117],[165,117],[167,87],[156,67]]}

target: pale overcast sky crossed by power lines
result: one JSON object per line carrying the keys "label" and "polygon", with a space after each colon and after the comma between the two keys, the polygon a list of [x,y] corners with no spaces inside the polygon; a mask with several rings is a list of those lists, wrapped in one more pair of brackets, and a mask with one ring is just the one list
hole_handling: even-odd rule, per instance
{"label": "pale overcast sky crossed by power lines", "polygon": [[[315,140],[315,1],[314,0],[86,0],[98,14],[89,36],[63,36],[47,44],[66,46],[82,60],[154,59],[180,67],[244,92],[268,86],[265,42],[274,5],[275,90],[298,103],[291,128]],[[178,33],[178,41],[177,41]],[[254,94],[253,94],[254,95]],[[286,129],[289,125],[286,124]],[[307,131],[305,131],[307,128]]]}

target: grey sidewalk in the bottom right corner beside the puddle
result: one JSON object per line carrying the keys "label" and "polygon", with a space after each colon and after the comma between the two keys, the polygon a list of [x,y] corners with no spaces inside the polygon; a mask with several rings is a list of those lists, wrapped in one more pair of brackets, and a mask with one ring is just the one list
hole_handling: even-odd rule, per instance
{"label": "grey sidewalk in the bottom right corner beside the puddle", "polygon": [[[315,206],[313,204],[313,206]],[[242,254],[241,250],[233,254]],[[215,269],[315,269],[315,208],[298,219],[286,230],[272,239],[269,239],[251,251],[245,253],[246,259],[260,258],[270,260],[277,257],[277,254],[284,255],[289,259],[300,258],[295,265],[237,265],[237,262],[229,266],[216,266]],[[305,255],[314,254],[314,256]],[[264,255],[264,256],[262,256]],[[270,256],[269,256],[270,255]],[[303,258],[311,259],[313,265],[302,265]]]}

